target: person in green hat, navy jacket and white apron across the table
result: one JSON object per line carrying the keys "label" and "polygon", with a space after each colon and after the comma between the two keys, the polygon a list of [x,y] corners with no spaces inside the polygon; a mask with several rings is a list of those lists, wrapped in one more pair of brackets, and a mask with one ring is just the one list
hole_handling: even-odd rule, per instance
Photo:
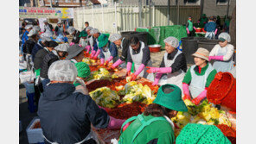
{"label": "person in green hat, navy jacket and white apron across the table", "polygon": [[108,65],[109,62],[116,62],[118,60],[118,48],[114,43],[108,41],[106,34],[101,34],[99,36],[99,59],[100,65]]}

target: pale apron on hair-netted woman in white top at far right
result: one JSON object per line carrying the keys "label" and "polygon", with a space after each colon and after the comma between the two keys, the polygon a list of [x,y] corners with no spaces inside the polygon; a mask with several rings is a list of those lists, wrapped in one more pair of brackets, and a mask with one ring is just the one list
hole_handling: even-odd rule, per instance
{"label": "pale apron on hair-netted woman in white top at far right", "polygon": [[[219,47],[218,53],[216,55],[226,55],[227,54],[227,47]],[[233,56],[228,61],[214,61],[214,69],[217,72],[228,72],[234,68],[234,61],[232,60]]]}

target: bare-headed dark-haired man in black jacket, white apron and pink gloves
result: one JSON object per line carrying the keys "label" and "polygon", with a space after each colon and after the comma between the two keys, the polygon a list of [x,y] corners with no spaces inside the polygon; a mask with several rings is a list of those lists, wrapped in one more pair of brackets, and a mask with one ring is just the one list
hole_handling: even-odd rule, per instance
{"label": "bare-headed dark-haired man in black jacket, white apron and pink gloves", "polygon": [[152,66],[150,60],[150,49],[144,45],[143,41],[139,41],[138,37],[131,37],[131,43],[127,57],[127,72],[131,72],[131,63],[134,62],[135,72],[131,74],[131,80],[135,80],[138,76],[154,80],[153,73],[145,71],[145,66]]}

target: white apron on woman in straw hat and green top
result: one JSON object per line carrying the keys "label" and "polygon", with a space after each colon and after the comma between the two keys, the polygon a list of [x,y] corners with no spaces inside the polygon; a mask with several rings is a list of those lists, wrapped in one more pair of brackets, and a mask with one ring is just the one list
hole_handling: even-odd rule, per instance
{"label": "white apron on woman in straw hat and green top", "polygon": [[210,63],[208,63],[208,69],[206,70],[204,75],[198,76],[195,74],[194,68],[195,68],[195,65],[191,66],[190,68],[191,82],[189,85],[189,91],[193,98],[197,97],[202,91],[205,90],[205,85],[206,85],[208,75],[214,70],[214,67]]}

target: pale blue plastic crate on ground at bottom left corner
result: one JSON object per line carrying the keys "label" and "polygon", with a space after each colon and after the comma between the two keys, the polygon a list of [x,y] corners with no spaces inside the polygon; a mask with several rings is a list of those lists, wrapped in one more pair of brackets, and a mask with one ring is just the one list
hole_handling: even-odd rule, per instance
{"label": "pale blue plastic crate on ground at bottom left corner", "polygon": [[34,128],[35,123],[40,122],[39,117],[34,117],[26,129],[29,143],[44,143],[42,128]]}

